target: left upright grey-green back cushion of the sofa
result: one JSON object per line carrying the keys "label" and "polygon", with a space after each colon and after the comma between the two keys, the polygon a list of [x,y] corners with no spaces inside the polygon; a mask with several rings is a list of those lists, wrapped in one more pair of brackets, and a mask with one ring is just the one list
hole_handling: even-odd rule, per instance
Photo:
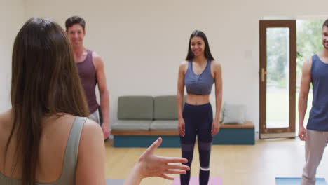
{"label": "left upright grey-green back cushion of the sofa", "polygon": [[153,97],[122,96],[118,97],[118,119],[152,120]]}

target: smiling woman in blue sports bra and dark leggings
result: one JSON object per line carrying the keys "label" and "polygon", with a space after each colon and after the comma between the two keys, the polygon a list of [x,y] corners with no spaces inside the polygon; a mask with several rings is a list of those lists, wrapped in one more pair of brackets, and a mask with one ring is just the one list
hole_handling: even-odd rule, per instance
{"label": "smiling woman in blue sports bra and dark leggings", "polygon": [[[215,83],[216,112],[213,120],[210,93]],[[184,85],[187,96],[184,110],[182,102]],[[219,132],[219,119],[222,102],[221,64],[214,60],[207,37],[201,31],[194,31],[189,39],[186,61],[179,67],[177,88],[178,130],[182,157],[191,166],[193,146],[198,139],[200,155],[200,185],[207,184],[210,177],[210,151],[213,136]],[[190,172],[180,175],[182,185],[189,184]]]}

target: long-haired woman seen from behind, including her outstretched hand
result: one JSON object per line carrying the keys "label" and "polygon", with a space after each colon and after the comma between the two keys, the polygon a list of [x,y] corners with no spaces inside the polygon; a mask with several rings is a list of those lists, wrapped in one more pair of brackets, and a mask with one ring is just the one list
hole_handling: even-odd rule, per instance
{"label": "long-haired woman seen from behind, including her outstretched hand", "polygon": [[[102,129],[90,121],[71,46],[57,23],[31,18],[13,46],[12,109],[0,114],[0,184],[105,184]],[[185,173],[184,158],[139,158],[125,184]]]}

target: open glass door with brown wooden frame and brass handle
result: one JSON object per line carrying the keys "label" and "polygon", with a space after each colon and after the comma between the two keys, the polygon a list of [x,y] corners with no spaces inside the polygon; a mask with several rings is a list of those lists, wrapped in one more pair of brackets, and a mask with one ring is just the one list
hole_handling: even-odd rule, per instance
{"label": "open glass door with brown wooden frame and brass handle", "polygon": [[259,23],[259,137],[295,137],[296,20]]}

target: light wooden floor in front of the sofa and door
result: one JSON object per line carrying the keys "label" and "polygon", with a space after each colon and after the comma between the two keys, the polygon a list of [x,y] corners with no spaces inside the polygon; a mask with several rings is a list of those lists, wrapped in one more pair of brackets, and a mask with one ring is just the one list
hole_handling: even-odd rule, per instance
{"label": "light wooden floor in front of the sofa and door", "polygon": [[[114,148],[106,142],[106,177],[125,179],[145,148]],[[195,146],[191,177],[198,177],[198,146]],[[180,156],[180,149],[157,149],[159,156]],[[258,140],[254,146],[213,145],[210,177],[221,177],[224,185],[275,185],[275,177],[301,177],[304,164],[304,142],[299,139]],[[176,176],[178,177],[178,176]],[[328,151],[326,149],[317,177],[328,181]],[[172,181],[152,177],[144,185],[172,184]]]}

